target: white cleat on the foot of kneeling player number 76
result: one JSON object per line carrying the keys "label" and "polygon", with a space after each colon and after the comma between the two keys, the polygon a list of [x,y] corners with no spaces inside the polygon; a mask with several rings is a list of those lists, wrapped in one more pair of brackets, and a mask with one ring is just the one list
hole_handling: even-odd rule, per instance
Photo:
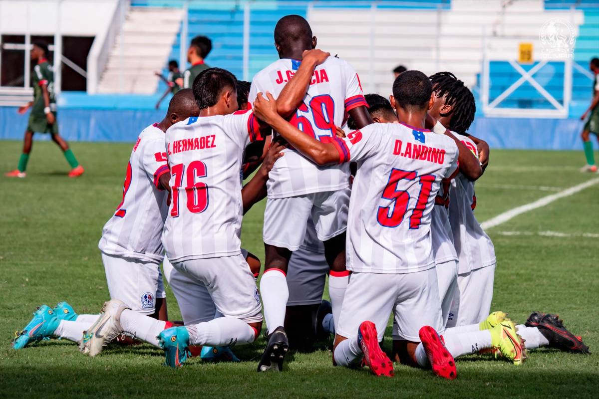
{"label": "white cleat on the foot of kneeling player number 76", "polygon": [[120,325],[120,313],[125,309],[130,308],[121,300],[111,299],[104,302],[102,314],[98,320],[83,332],[83,338],[79,342],[79,351],[90,356],[102,352],[108,342],[123,332]]}

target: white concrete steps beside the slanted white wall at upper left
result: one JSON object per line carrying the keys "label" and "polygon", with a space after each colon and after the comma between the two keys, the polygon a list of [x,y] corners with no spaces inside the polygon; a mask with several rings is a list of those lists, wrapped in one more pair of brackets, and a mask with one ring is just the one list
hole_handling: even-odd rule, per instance
{"label": "white concrete steps beside the slanted white wall at upper left", "polygon": [[183,11],[176,8],[130,8],[110,51],[98,93],[155,93],[158,77],[154,72],[167,64],[182,18]]}

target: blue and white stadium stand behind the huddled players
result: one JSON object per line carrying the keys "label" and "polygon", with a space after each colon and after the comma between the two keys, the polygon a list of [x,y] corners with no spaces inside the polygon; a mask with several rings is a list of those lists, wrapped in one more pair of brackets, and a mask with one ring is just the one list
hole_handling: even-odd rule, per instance
{"label": "blue and white stadium stand behind the huddled players", "polygon": [[[425,72],[432,73],[438,69],[453,71],[473,87],[478,97],[485,45],[494,57],[500,59],[514,58],[518,42],[522,41],[533,42],[538,50],[538,26],[550,17],[561,17],[580,26],[575,51],[580,68],[574,69],[572,99],[574,103],[586,100],[589,75],[584,71],[595,50],[596,46],[593,46],[599,41],[599,11],[594,11],[597,4],[584,0],[523,0],[508,2],[504,7],[505,4],[498,0],[477,2],[475,5],[467,0],[382,1],[377,4],[378,11],[373,13],[370,4],[359,1],[255,2],[250,11],[250,57],[246,77],[251,78],[276,58],[272,38],[274,24],[280,16],[296,13],[308,17],[322,48],[355,65],[363,77],[365,90],[386,94],[391,80],[389,71],[401,62]],[[132,5],[179,7],[181,2],[138,0]],[[207,7],[209,10],[206,10]],[[244,76],[243,14],[240,2],[191,2],[189,8],[187,41],[198,34],[210,36],[214,49],[207,62],[229,69],[238,77]],[[434,23],[428,29],[422,29],[422,20]],[[485,33],[487,38],[482,38],[481,33]],[[171,49],[170,59],[179,59],[180,35],[181,29]],[[410,40],[398,39],[398,35],[409,35]],[[374,47],[371,47],[371,37],[374,37]],[[502,61],[492,62],[491,74],[490,100],[520,76],[512,66]],[[563,74],[564,66],[560,63],[547,65],[536,74],[536,78],[547,83],[547,91],[559,102],[563,102],[564,97],[561,90]],[[163,85],[161,83],[157,92],[164,90]],[[547,100],[528,83],[510,95],[503,106],[550,108]]]}

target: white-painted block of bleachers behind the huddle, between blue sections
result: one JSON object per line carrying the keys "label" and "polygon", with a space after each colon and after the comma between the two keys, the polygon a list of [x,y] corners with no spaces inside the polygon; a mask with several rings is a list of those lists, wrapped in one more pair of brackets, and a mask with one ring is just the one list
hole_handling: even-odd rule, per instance
{"label": "white-painted block of bleachers behind the huddle, between blue sections", "polygon": [[[539,31],[546,20],[569,20],[577,31],[581,11],[547,11],[542,0],[452,0],[450,10],[311,8],[318,47],[338,54],[358,71],[366,92],[388,96],[392,69],[425,74],[453,72],[468,86],[489,57],[518,59],[519,42],[532,42],[540,58]],[[375,46],[371,46],[374,41]]]}

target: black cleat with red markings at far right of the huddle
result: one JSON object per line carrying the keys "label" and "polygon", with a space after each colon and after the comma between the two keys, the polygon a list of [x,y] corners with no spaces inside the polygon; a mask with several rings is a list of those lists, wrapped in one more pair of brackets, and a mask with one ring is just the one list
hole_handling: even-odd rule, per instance
{"label": "black cleat with red markings at far right of the huddle", "polygon": [[588,346],[582,342],[582,338],[570,333],[564,327],[564,321],[560,320],[558,315],[533,312],[524,325],[539,328],[541,334],[549,341],[549,348],[556,348],[565,352],[591,354]]}

